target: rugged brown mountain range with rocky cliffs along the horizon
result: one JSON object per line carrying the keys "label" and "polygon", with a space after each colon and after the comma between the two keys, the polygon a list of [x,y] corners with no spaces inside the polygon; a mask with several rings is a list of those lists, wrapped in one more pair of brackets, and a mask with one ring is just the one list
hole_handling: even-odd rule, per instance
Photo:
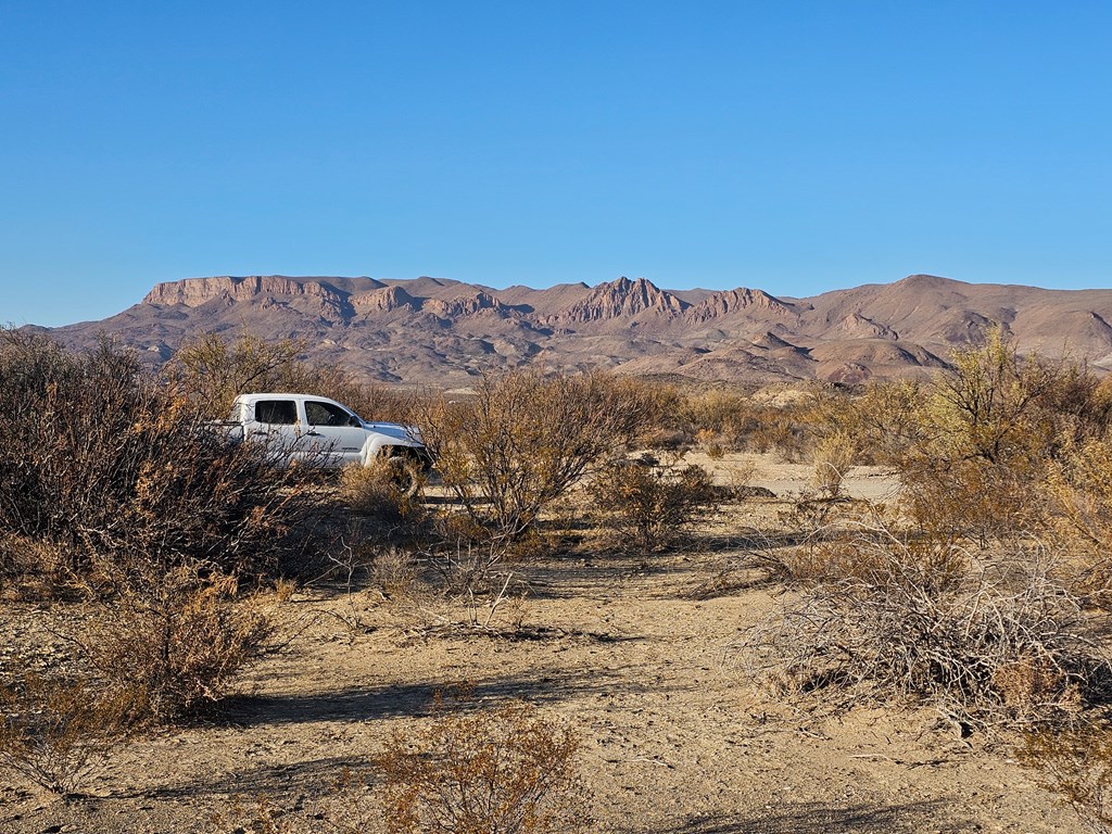
{"label": "rugged brown mountain range with rocky cliffs along the horizon", "polygon": [[468,386],[484,370],[543,363],[699,381],[860,383],[921,376],[999,325],[1021,350],[1112,369],[1112,290],[1046,290],[913,275],[813,298],[761,289],[667,290],[644,278],[493,289],[443,278],[188,278],[159,284],[100,334],[152,366],[216,331],[305,339],[308,357],[387,383]]}

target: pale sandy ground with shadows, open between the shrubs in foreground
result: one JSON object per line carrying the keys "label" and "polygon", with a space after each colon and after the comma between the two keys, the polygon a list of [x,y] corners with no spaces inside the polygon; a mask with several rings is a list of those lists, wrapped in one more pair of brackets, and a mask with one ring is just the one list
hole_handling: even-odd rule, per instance
{"label": "pale sandy ground with shadows, open between the shrubs in foreground", "polygon": [[[714,465],[724,476],[749,463],[753,483],[780,496],[812,474],[741,456]],[[884,499],[893,481],[860,469],[848,486]],[[1006,745],[963,739],[930,707],[833,714],[821,697],[784,703],[753,689],[731,645],[782,589],[723,579],[748,532],[786,506],[729,506],[683,553],[516,565],[530,587],[516,638],[420,636],[413,613],[377,590],[305,588],[284,607],[304,631],[215,717],[119,747],[88,798],[0,782],[0,832],[234,831],[214,815],[259,803],[311,825],[314,801],[346,767],[367,778],[365,830],[379,831],[369,759],[460,683],[474,686],[475,706],[523,699],[578,729],[599,832],[1079,831]],[[724,589],[705,598],[715,583]],[[0,626],[27,639],[48,616],[8,606]]]}

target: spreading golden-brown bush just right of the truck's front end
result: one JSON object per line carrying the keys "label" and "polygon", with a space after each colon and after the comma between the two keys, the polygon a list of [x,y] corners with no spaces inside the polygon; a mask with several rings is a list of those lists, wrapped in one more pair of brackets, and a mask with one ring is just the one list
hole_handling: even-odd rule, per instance
{"label": "spreading golden-brown bush just right of the truck's front end", "polygon": [[484,377],[473,400],[427,398],[418,423],[468,517],[504,538],[537,516],[633,436],[636,400],[603,374],[516,370]]}

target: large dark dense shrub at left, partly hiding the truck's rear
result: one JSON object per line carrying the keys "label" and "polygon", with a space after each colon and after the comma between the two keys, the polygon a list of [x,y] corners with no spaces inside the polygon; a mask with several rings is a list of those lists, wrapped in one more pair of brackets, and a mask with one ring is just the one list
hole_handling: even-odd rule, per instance
{"label": "large dark dense shrub at left, partly hiding the truck's rear", "polygon": [[316,502],[301,476],[230,447],[172,389],[109,345],[0,340],[0,534],[93,556],[225,570],[272,563]]}

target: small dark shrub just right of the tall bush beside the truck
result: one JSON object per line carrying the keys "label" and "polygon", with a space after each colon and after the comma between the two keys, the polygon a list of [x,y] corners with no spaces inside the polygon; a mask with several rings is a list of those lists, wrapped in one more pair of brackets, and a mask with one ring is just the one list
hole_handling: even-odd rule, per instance
{"label": "small dark shrub just right of the tall bush beside the truck", "polygon": [[663,549],[717,508],[719,496],[701,466],[678,470],[615,460],[592,480],[588,492],[603,525],[626,546]]}

